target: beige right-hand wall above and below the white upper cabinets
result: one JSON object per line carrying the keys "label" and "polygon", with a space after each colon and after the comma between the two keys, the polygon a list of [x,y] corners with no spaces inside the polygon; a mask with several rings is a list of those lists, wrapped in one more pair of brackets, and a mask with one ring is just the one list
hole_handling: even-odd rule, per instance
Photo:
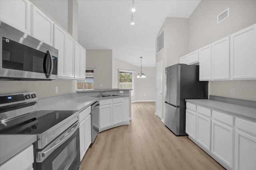
{"label": "beige right-hand wall above and below the white upper cabinets", "polygon": [[[229,8],[229,18],[217,24],[220,12]],[[189,52],[256,23],[255,0],[202,0],[189,18]],[[243,86],[249,84],[249,86]],[[256,80],[212,81],[210,95],[256,101]],[[235,88],[235,95],[230,94]]]}

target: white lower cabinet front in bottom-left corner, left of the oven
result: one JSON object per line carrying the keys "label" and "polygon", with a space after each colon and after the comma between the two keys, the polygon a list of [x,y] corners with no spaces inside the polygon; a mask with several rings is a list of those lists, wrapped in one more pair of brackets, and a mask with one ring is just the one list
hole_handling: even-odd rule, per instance
{"label": "white lower cabinet front in bottom-left corner, left of the oven", "polygon": [[0,166],[0,170],[31,170],[33,162],[33,145],[30,145],[20,153],[16,154],[10,160],[2,164]]}

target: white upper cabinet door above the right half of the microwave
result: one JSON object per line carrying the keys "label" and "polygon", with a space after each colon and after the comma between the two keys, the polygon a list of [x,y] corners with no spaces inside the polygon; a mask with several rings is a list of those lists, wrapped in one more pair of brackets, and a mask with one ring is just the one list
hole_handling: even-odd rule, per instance
{"label": "white upper cabinet door above the right half of the microwave", "polygon": [[42,42],[53,46],[53,24],[54,22],[48,18],[36,6],[31,5],[31,35]]}

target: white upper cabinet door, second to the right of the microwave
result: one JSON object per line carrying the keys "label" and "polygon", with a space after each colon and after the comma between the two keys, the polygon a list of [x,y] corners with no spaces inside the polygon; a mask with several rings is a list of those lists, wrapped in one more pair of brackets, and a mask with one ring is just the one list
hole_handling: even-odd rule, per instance
{"label": "white upper cabinet door, second to the right of the microwave", "polygon": [[66,36],[66,77],[74,78],[74,39]]}

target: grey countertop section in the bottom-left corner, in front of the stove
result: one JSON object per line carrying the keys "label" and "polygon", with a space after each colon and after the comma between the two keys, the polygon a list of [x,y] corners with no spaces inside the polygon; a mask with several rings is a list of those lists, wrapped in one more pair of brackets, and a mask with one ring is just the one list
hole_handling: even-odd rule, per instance
{"label": "grey countertop section in the bottom-left corner, in front of the stove", "polygon": [[36,142],[36,140],[36,135],[0,135],[0,164]]}

